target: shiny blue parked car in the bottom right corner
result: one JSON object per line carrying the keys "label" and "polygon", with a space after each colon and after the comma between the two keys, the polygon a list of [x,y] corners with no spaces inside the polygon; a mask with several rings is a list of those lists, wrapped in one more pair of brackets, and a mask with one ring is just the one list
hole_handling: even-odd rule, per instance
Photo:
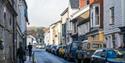
{"label": "shiny blue parked car in the bottom right corner", "polygon": [[125,58],[118,50],[103,48],[95,51],[91,63],[125,63]]}

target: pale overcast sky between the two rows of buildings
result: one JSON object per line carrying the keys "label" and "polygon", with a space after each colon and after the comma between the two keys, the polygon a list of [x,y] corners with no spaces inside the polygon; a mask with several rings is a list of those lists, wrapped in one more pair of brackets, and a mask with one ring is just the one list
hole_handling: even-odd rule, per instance
{"label": "pale overcast sky between the two rows of buildings", "polygon": [[60,19],[68,0],[26,0],[30,25],[48,27]]}

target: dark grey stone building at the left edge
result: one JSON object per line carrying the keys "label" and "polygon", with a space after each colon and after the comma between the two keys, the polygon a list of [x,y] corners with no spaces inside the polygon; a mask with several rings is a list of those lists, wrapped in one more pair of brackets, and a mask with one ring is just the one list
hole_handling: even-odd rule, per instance
{"label": "dark grey stone building at the left edge", "polygon": [[15,62],[16,0],[0,0],[0,62]]}

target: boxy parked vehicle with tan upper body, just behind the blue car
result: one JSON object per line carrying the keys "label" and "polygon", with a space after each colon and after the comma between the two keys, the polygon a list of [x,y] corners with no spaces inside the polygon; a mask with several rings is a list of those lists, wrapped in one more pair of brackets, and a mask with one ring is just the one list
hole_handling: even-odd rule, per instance
{"label": "boxy parked vehicle with tan upper body, just behind the blue car", "polygon": [[77,61],[90,62],[92,54],[99,48],[103,48],[102,42],[83,41],[77,49]]}

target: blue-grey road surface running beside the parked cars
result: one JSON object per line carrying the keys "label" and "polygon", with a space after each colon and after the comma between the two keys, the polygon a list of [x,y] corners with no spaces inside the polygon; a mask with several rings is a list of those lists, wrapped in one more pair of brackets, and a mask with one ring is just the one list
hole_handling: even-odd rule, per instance
{"label": "blue-grey road surface running beside the parked cars", "polygon": [[73,63],[48,53],[45,50],[35,49],[34,53],[36,63]]}

